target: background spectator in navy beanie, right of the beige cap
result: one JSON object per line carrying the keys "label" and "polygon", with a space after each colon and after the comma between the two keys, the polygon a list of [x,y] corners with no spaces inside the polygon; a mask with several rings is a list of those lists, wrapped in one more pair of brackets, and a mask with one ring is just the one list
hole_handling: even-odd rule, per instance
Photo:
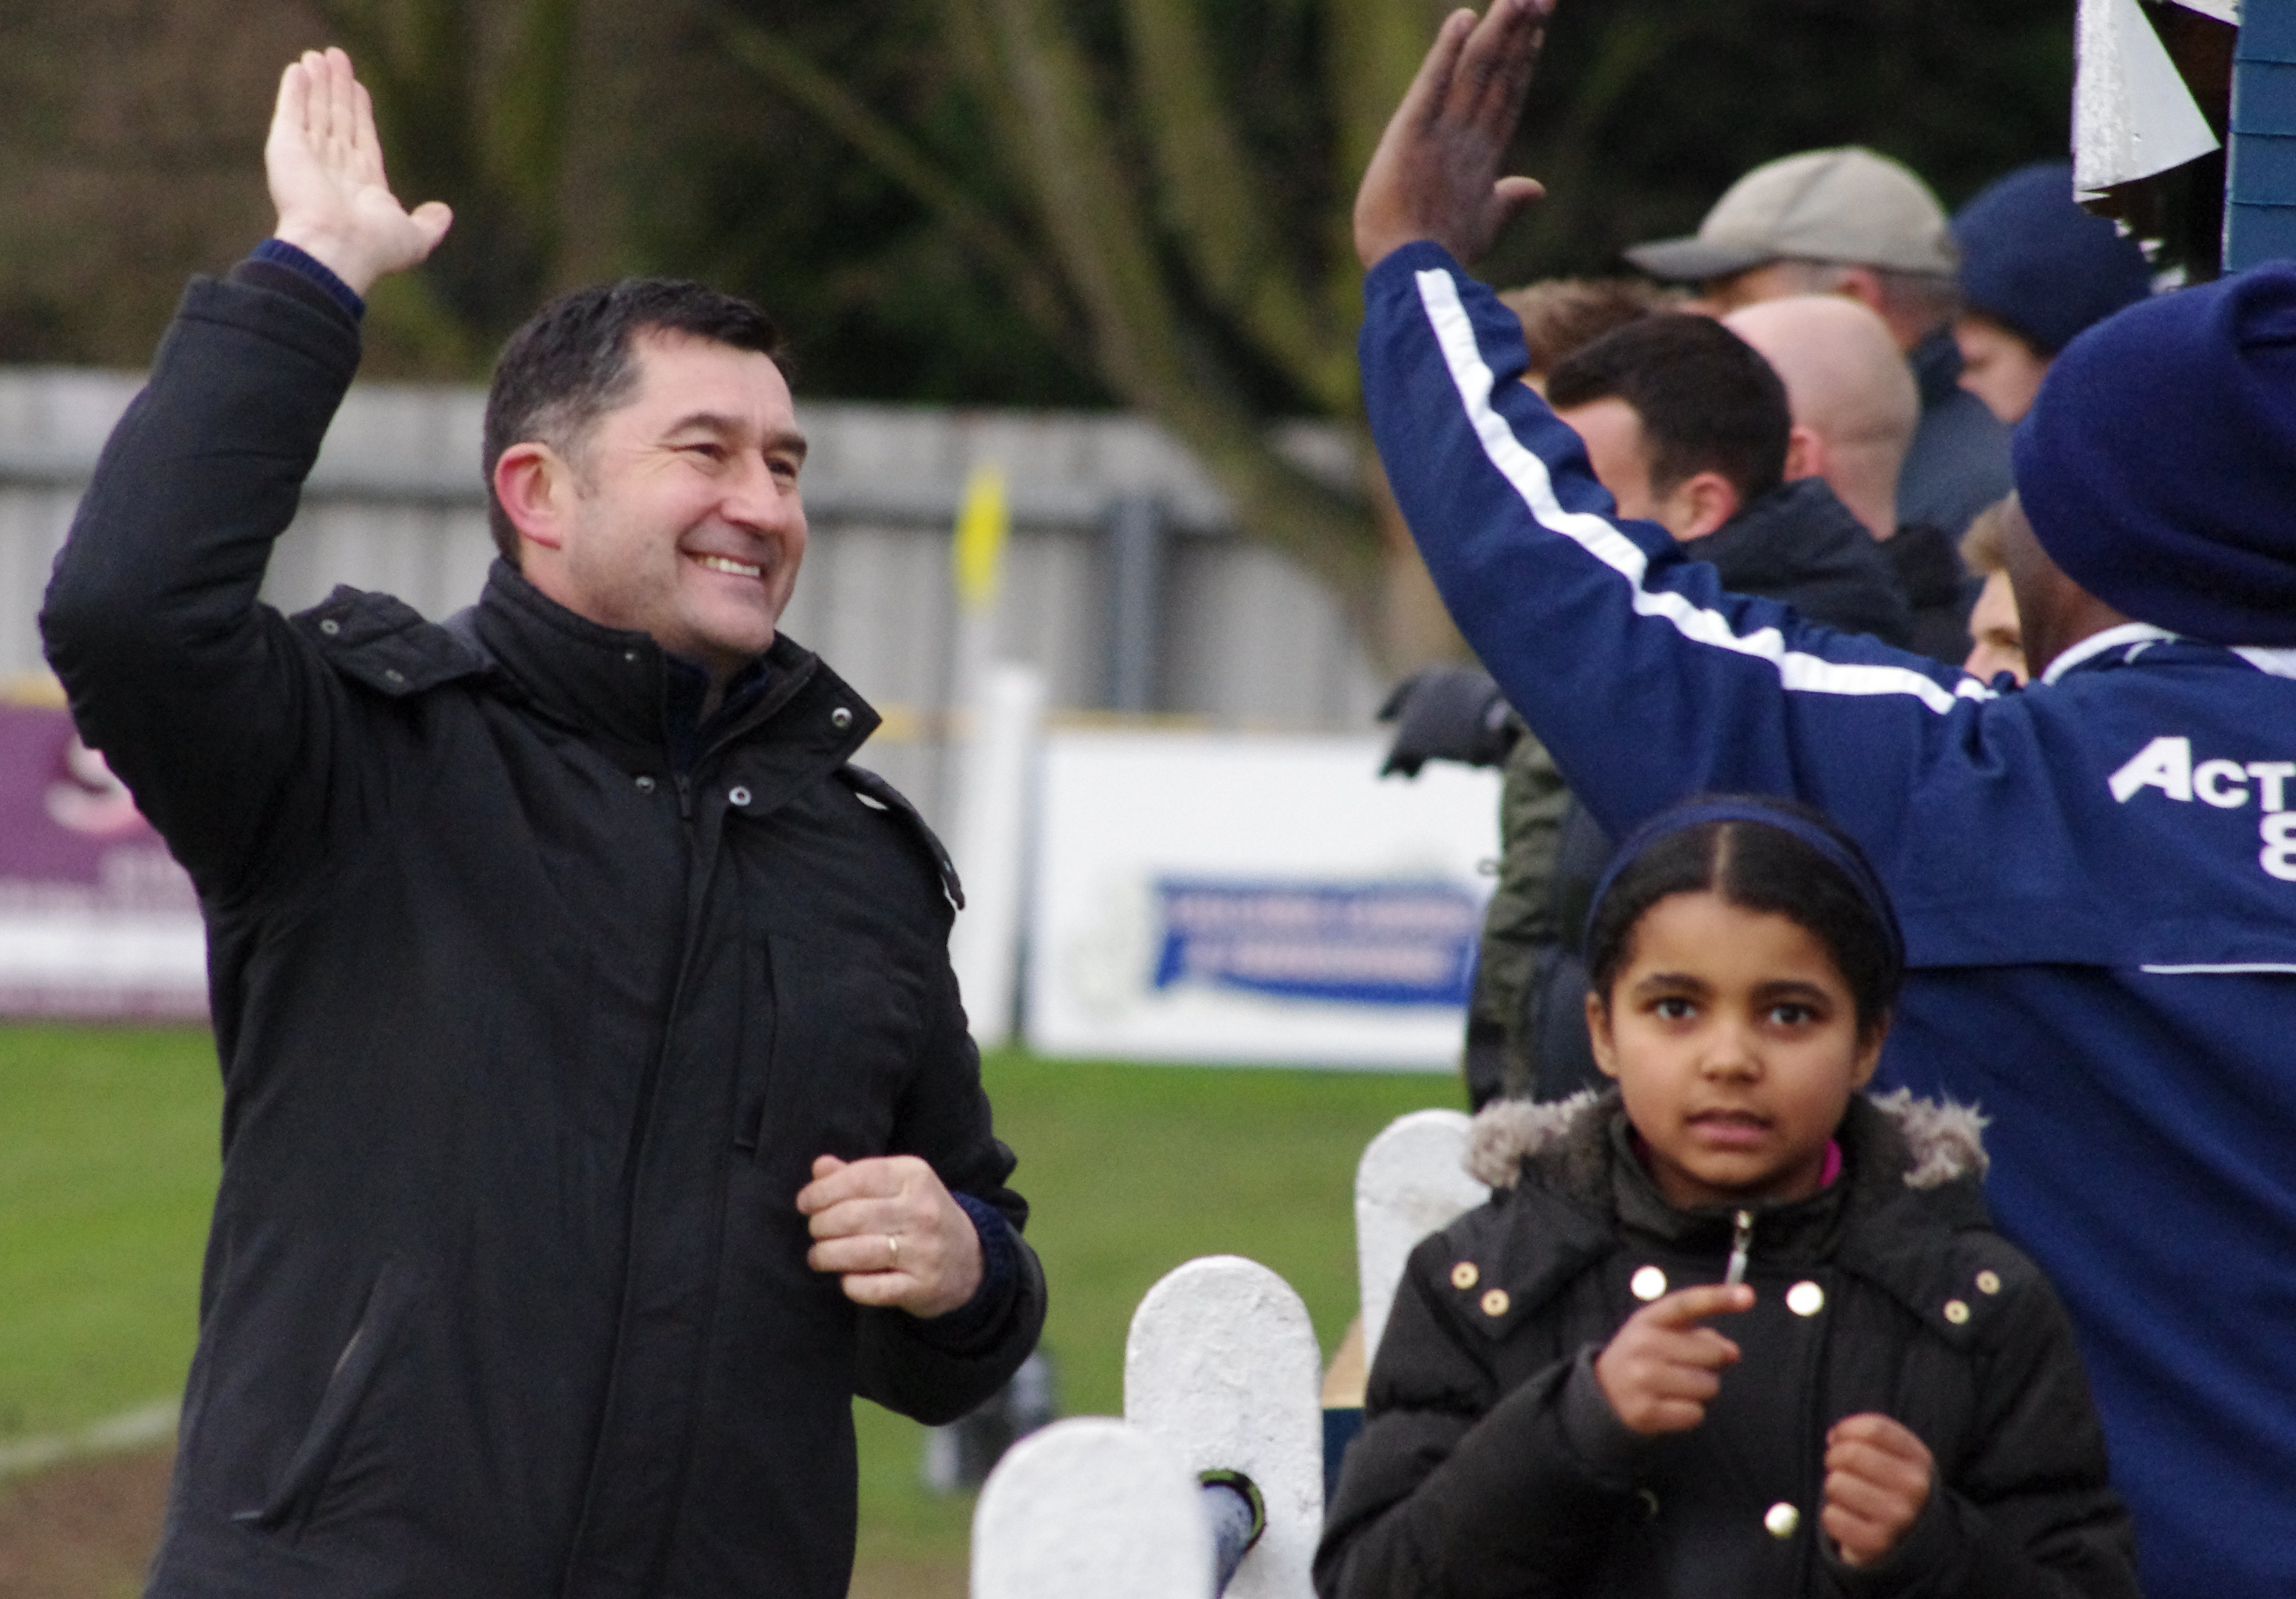
{"label": "background spectator in navy beanie, right of the beige cap", "polygon": [[2073,202],[2073,163],[2037,161],[1954,218],[1961,386],[2014,427],[2076,333],[2151,294],[2135,239]]}

